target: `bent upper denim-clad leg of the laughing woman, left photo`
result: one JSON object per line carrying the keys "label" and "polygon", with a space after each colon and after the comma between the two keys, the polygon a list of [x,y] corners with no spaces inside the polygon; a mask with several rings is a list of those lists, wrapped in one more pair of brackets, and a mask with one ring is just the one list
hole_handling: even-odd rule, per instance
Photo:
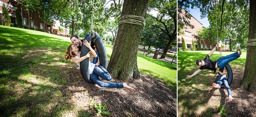
{"label": "bent upper denim-clad leg of the laughing woman, left photo", "polygon": [[109,72],[101,65],[95,66],[93,73],[95,73],[97,76],[103,78],[106,81],[110,81],[112,78]]}

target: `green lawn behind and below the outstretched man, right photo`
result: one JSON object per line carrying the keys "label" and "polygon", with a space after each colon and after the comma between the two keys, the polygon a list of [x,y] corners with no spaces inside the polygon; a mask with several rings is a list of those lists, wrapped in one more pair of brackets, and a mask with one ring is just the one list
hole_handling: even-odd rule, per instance
{"label": "green lawn behind and below the outstretched man, right photo", "polygon": [[[226,56],[233,52],[223,52]],[[200,109],[208,107],[207,101],[209,97],[205,95],[213,82],[216,80],[216,74],[210,70],[202,70],[190,79],[186,79],[187,75],[192,75],[199,66],[196,65],[197,59],[204,59],[210,51],[179,51],[178,52],[178,115],[195,116]],[[242,52],[240,58],[231,61],[230,66],[245,66],[246,51]],[[220,58],[220,52],[215,51],[210,59],[216,61]],[[211,107],[209,107],[211,108]],[[202,112],[204,116],[212,116],[212,110]]]}

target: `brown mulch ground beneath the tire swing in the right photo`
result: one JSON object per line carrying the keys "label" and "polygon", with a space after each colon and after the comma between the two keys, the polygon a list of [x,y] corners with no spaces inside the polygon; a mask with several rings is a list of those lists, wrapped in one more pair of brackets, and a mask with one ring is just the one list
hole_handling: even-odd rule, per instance
{"label": "brown mulch ground beneath the tire swing in the right photo", "polygon": [[[226,88],[216,89],[211,86],[208,93],[208,104],[213,105],[212,109],[221,102],[225,105],[227,116],[241,116],[241,117],[253,117],[256,116],[256,94],[255,92],[248,92],[248,90],[241,89],[241,82],[243,80],[244,67],[231,66],[233,70],[233,81],[230,85],[233,101],[227,103],[229,99]],[[215,106],[214,106],[215,105]],[[220,115],[215,114],[219,117]]]}

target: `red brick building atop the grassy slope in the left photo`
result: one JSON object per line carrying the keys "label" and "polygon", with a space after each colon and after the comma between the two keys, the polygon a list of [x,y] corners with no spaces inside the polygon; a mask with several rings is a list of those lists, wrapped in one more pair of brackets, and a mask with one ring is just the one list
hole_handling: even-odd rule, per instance
{"label": "red brick building atop the grassy slope in the left photo", "polygon": [[59,30],[59,24],[57,22],[53,22],[53,26],[50,24],[46,24],[44,21],[39,19],[39,14],[36,12],[27,12],[24,10],[24,8],[18,4],[18,0],[0,0],[0,21],[4,22],[4,16],[2,12],[2,6],[5,4],[9,16],[11,17],[11,23],[17,24],[17,18],[16,18],[16,8],[19,9],[20,15],[22,17],[22,25],[27,26],[29,28],[34,28],[35,30],[42,30],[49,33],[54,33],[57,35],[68,35],[69,29],[63,28],[63,32],[58,31]]}

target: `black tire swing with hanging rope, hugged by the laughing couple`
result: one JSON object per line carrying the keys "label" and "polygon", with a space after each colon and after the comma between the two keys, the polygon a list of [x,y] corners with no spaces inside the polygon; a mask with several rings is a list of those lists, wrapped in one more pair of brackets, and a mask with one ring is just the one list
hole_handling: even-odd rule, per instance
{"label": "black tire swing with hanging rope, hugged by the laughing couple", "polygon": [[[94,5],[94,2],[93,2],[93,5]],[[98,51],[98,55],[99,55],[100,65],[102,65],[105,69],[107,69],[108,68],[108,56],[107,56],[106,48],[105,48],[104,43],[103,43],[101,37],[99,36],[99,34],[93,31],[93,10],[94,10],[94,6],[92,6],[91,32],[88,32],[85,35],[84,40],[87,40],[88,42],[91,41],[91,46],[93,45],[92,43],[95,44],[96,49]],[[80,56],[85,56],[85,55],[87,55],[88,52],[89,52],[89,48],[87,48],[84,44],[82,44]],[[90,73],[89,73],[88,68],[89,68],[89,58],[86,58],[80,62],[81,75],[85,81],[87,81],[91,84],[95,84],[90,78]]]}

